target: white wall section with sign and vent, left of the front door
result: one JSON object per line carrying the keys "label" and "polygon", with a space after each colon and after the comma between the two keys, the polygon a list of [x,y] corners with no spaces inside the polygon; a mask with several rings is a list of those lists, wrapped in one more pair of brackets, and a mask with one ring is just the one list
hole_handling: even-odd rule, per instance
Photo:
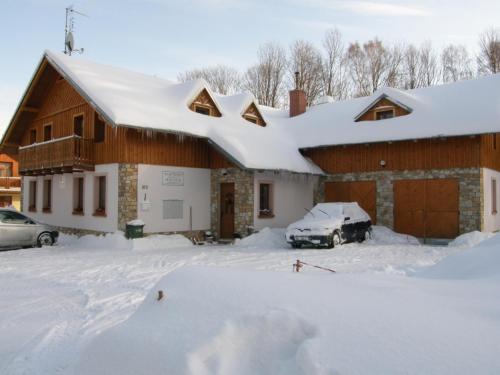
{"label": "white wall section with sign and vent, left of the front door", "polygon": [[[181,186],[163,183],[163,172],[169,171],[182,173]],[[137,195],[146,233],[210,229],[209,169],[139,164]],[[182,219],[163,218],[163,200],[168,199],[184,201]]]}

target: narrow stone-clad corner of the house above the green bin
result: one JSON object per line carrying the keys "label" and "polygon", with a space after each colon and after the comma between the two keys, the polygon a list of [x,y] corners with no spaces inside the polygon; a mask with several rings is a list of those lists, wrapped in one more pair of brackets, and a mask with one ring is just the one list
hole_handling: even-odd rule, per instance
{"label": "narrow stone-clad corner of the house above the green bin", "polygon": [[118,229],[137,219],[137,164],[118,165]]}

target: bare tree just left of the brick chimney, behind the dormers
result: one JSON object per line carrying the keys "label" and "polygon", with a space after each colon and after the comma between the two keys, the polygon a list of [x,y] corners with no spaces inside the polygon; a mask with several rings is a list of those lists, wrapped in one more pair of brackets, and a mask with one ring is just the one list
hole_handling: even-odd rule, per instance
{"label": "bare tree just left of the brick chimney, behind the dormers", "polygon": [[266,43],[257,51],[258,62],[247,69],[243,87],[262,105],[278,107],[284,97],[287,60],[285,50],[276,43]]}

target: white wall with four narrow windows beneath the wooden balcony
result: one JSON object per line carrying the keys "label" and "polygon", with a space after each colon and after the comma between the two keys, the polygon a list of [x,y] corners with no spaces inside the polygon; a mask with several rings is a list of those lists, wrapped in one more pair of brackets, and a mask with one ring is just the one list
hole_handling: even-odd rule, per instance
{"label": "white wall with four narrow windows beneath the wooden balcony", "polygon": [[[95,176],[106,176],[106,217],[93,216]],[[73,180],[84,177],[84,215],[73,215]],[[52,177],[52,212],[42,212],[43,180]],[[57,174],[53,176],[23,177],[23,212],[46,224],[114,232],[118,229],[118,164],[95,166],[95,172]],[[29,181],[37,180],[37,212],[29,212]]]}

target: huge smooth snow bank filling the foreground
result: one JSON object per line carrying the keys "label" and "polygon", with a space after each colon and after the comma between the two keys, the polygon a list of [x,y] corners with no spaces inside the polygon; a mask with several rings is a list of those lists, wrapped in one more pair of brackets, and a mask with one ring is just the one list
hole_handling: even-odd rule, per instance
{"label": "huge smooth snow bank filling the foreground", "polygon": [[90,341],[75,374],[499,373],[499,288],[183,267]]}

